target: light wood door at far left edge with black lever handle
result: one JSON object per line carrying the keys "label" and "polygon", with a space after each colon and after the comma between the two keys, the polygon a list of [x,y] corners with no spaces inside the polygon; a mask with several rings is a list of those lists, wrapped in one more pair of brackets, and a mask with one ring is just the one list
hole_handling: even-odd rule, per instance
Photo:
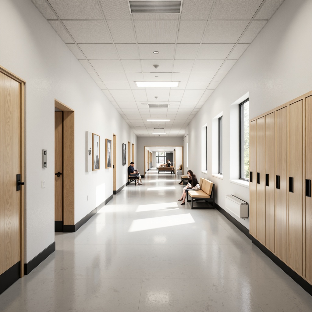
{"label": "light wood door at far left edge with black lever handle", "polygon": [[21,88],[19,82],[0,71],[0,275],[22,256],[22,191],[16,187],[16,175],[24,178]]}

